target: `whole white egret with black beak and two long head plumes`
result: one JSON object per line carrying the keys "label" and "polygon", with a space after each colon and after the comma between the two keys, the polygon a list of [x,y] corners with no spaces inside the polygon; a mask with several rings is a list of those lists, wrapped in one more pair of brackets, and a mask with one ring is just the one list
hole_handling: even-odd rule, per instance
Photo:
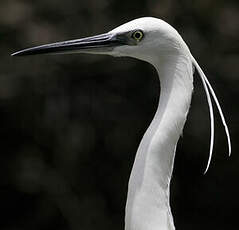
{"label": "whole white egret with black beak and two long head plumes", "polygon": [[179,33],[165,21],[152,17],[135,19],[105,34],[37,46],[12,55],[75,52],[134,57],[156,68],[161,86],[160,100],[153,121],[141,140],[130,175],[125,230],[175,229],[169,204],[170,180],[177,142],[191,103],[194,67],[206,92],[211,120],[205,173],[214,144],[211,96],[225,128],[229,155],[231,153],[229,131],[208,79]]}

